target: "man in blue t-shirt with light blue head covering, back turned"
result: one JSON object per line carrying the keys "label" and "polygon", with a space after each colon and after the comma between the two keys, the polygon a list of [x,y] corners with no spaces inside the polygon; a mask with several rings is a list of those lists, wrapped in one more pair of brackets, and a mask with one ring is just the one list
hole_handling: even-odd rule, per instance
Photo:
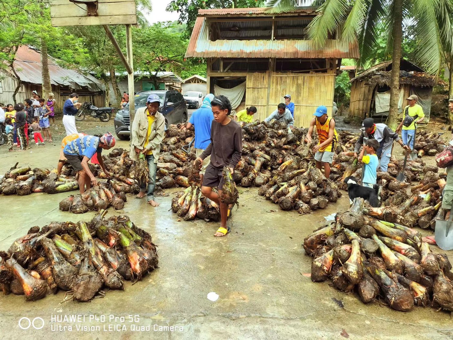
{"label": "man in blue t-shirt with light blue head covering, back turned", "polygon": [[[186,128],[188,130],[195,130],[195,154],[198,157],[202,154],[204,149],[207,148],[209,143],[211,143],[211,125],[214,120],[214,115],[212,114],[211,100],[214,98],[212,93],[209,93],[204,97],[202,106],[192,113],[190,116],[189,122],[186,126],[182,126],[182,129]],[[203,182],[203,175],[206,171],[207,165],[211,161],[211,156],[207,156],[203,160],[203,165],[200,170],[200,179],[201,183]]]}

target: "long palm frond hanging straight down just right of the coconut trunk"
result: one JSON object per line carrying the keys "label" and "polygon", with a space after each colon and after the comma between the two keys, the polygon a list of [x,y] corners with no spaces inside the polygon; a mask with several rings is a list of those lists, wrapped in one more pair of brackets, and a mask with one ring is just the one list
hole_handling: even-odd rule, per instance
{"label": "long palm frond hanging straight down just right of the coconut trunk", "polygon": [[442,0],[413,0],[412,12],[415,19],[417,41],[415,57],[426,65],[427,71],[439,74],[444,54],[441,31],[438,23],[439,5]]}

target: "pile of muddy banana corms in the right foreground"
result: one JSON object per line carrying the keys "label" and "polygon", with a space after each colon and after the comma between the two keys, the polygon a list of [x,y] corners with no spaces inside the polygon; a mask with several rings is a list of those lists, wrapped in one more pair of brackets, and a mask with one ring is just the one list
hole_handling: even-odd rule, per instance
{"label": "pile of muddy banana corms in the right foreground", "polygon": [[398,311],[414,305],[453,311],[453,272],[445,254],[434,254],[414,229],[374,219],[355,199],[337,221],[304,239],[313,256],[313,282],[331,280],[340,291],[357,291],[364,303],[383,298]]}

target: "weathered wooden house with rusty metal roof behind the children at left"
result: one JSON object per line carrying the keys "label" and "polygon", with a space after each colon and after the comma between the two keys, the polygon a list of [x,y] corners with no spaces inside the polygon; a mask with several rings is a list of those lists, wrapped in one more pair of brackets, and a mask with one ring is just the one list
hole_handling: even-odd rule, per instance
{"label": "weathered wooden house with rusty metal roof behind the children at left", "polygon": [[[61,112],[63,104],[72,92],[77,92],[79,102],[92,102],[98,107],[105,106],[105,86],[90,74],[82,74],[70,68],[58,65],[55,59],[49,56],[49,73],[52,92],[56,100],[56,112]],[[39,96],[48,98],[48,93],[42,91],[42,64],[41,53],[31,46],[19,46],[14,69],[22,85],[16,94],[17,102],[24,102],[31,97],[32,91]],[[0,105],[14,104],[13,93],[17,87],[17,77],[10,69],[0,71]]]}

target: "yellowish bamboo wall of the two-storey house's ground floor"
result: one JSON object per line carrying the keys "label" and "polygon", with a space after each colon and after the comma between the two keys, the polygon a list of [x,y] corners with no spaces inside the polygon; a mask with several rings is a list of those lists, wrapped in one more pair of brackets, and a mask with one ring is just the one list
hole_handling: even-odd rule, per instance
{"label": "yellowish bamboo wall of the two-storey house's ground floor", "polygon": [[246,107],[255,106],[256,118],[262,121],[284,102],[285,94],[290,94],[295,106],[295,126],[307,127],[319,105],[325,105],[328,115],[332,115],[334,85],[335,73],[250,73]]}

